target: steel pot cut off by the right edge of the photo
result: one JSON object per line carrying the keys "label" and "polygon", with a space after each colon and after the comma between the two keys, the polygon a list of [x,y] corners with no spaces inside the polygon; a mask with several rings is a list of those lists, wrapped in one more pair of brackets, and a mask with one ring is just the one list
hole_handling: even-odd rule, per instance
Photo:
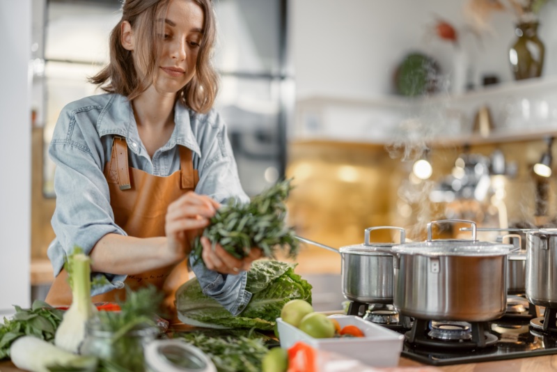
{"label": "steel pot cut off by the right edge of the photo", "polygon": [[526,298],[538,306],[557,307],[557,229],[526,232]]}

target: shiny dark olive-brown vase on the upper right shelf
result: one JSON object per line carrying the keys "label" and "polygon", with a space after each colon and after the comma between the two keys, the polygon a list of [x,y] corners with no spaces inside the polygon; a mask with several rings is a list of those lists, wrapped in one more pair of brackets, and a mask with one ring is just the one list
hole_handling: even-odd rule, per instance
{"label": "shiny dark olive-brown vase on the upper right shelf", "polygon": [[538,38],[538,22],[521,22],[515,33],[518,36],[510,47],[509,59],[515,79],[528,79],[542,75],[544,43]]}

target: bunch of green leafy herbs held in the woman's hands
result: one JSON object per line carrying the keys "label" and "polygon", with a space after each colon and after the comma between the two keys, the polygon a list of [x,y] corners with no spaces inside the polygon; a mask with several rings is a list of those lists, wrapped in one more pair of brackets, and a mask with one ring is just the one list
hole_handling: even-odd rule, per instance
{"label": "bunch of green leafy herbs held in the woman's hands", "polygon": [[[217,210],[203,236],[209,238],[213,247],[218,243],[236,258],[248,256],[253,247],[271,258],[275,258],[278,247],[289,247],[290,256],[295,256],[298,241],[294,230],[285,224],[285,200],[291,189],[290,180],[284,180],[254,196],[249,203],[235,205],[230,201]],[[196,238],[192,250],[196,259],[201,258],[202,250],[200,238]]]}

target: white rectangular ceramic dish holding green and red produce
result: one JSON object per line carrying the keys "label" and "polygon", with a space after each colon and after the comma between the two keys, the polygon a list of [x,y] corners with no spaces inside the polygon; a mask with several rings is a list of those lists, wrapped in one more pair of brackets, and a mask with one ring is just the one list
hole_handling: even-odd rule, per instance
{"label": "white rectangular ceramic dish holding green and red produce", "polygon": [[398,332],[363,320],[359,316],[332,315],[330,318],[338,320],[340,327],[356,325],[366,335],[364,337],[341,337],[332,339],[314,339],[296,327],[276,319],[278,336],[282,348],[290,348],[298,341],[303,341],[313,348],[336,352],[377,367],[398,366],[398,359],[402,351],[404,336]]}

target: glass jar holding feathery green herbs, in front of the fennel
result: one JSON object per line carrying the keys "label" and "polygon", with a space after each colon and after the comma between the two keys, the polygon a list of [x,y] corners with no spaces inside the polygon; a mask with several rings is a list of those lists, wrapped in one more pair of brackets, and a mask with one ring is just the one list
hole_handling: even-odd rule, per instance
{"label": "glass jar holding feathery green herbs, in front of the fennel", "polygon": [[119,335],[102,330],[97,322],[88,322],[79,351],[81,355],[94,355],[130,371],[145,371],[143,350],[158,334],[158,327],[145,326]]}

